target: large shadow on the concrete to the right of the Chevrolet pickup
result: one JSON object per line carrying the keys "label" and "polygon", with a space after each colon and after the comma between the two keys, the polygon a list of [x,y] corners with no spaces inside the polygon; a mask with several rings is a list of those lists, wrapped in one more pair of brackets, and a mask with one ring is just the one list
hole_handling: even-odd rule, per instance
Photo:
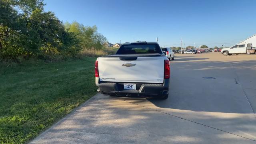
{"label": "large shadow on the concrete to the right of the Chevrolet pickup", "polygon": [[255,74],[256,60],[173,62],[169,98],[148,100],[160,108],[252,114],[256,112]]}

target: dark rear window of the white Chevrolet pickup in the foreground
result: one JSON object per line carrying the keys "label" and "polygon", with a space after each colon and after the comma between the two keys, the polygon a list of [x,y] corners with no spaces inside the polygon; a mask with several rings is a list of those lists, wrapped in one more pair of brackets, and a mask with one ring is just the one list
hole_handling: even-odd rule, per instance
{"label": "dark rear window of the white Chevrolet pickup in the foreground", "polygon": [[131,44],[122,45],[116,54],[162,54],[158,44]]}

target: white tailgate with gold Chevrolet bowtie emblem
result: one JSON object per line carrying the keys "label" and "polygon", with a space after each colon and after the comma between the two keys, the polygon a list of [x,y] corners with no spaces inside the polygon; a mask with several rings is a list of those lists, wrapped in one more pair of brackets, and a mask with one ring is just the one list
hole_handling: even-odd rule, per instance
{"label": "white tailgate with gold Chevrolet bowtie emblem", "polygon": [[121,60],[119,57],[98,58],[99,76],[102,82],[164,82],[164,56],[136,57]]}

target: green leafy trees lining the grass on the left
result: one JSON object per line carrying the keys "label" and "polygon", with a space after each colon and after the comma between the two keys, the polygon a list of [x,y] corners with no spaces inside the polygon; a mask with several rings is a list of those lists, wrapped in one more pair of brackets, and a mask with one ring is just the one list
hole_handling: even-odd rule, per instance
{"label": "green leafy trees lining the grass on the left", "polygon": [[64,24],[44,5],[43,0],[0,0],[0,59],[75,57],[84,48],[102,48],[106,38],[96,26]]}

